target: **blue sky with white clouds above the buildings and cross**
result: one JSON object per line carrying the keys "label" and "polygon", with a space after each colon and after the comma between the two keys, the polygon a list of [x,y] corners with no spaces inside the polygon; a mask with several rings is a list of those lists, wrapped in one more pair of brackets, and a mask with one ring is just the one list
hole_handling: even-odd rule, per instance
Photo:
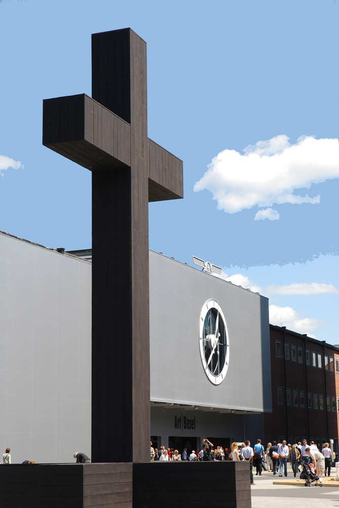
{"label": "blue sky with white clouds above the buildings and cross", "polygon": [[131,27],[148,136],[184,165],[184,199],[149,205],[150,248],[221,266],[272,323],[339,343],[338,16],[335,0],[0,1],[0,229],[91,246],[90,172],[42,146],[42,102],[91,96],[91,34]]}

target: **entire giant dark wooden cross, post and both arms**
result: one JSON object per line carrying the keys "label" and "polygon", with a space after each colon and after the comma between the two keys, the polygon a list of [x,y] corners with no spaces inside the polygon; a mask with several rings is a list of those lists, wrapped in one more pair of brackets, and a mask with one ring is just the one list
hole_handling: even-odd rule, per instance
{"label": "entire giant dark wooden cross, post and both arms", "polygon": [[92,462],[143,462],[148,201],[183,197],[182,161],[147,137],[146,43],[130,28],[92,35],[92,95],[45,100],[43,144],[92,171]]}

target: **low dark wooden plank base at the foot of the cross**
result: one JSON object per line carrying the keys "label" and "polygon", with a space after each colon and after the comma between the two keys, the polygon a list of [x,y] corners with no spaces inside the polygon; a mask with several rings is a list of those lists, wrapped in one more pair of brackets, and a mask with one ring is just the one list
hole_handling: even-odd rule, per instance
{"label": "low dark wooden plank base at the foot of the cross", "polygon": [[0,466],[1,508],[251,508],[248,462]]}

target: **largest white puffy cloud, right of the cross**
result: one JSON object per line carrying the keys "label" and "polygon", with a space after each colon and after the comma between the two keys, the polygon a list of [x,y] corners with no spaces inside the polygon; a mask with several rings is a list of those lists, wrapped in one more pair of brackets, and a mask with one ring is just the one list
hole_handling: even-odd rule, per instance
{"label": "largest white puffy cloud, right of the cross", "polygon": [[218,209],[227,213],[253,206],[271,207],[274,203],[316,204],[319,195],[300,196],[294,190],[339,177],[335,139],[302,136],[291,144],[283,134],[248,145],[243,152],[226,149],[218,153],[194,185],[195,192],[210,190]]}

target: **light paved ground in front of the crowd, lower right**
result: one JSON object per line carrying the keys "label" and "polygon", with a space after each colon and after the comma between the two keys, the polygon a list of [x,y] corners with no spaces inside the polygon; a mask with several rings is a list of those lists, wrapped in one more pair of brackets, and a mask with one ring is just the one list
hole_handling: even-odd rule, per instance
{"label": "light paved ground in front of the crowd, lower right", "polygon": [[[335,471],[333,472],[335,474]],[[252,508],[281,508],[282,505],[293,506],[303,500],[307,501],[307,505],[315,505],[317,508],[339,508],[339,482],[336,487],[273,485],[273,481],[279,480],[293,482],[294,477],[290,468],[287,479],[265,471],[261,477],[256,476],[255,469],[253,478],[255,485],[251,487]]]}

